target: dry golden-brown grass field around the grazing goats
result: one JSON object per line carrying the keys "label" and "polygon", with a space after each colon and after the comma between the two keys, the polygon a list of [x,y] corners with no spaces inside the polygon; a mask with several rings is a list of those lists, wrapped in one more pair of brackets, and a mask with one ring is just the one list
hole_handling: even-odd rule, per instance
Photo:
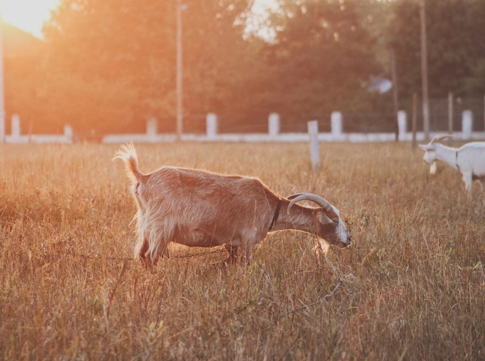
{"label": "dry golden-brown grass field around the grazing goats", "polygon": [[459,173],[429,175],[408,143],[322,143],[318,174],[304,143],[136,147],[145,172],[193,167],[321,194],[353,245],[320,254],[314,236],[276,232],[249,267],[213,267],[226,256],[213,253],[150,272],[125,259],[135,204],[117,146],[3,144],[0,359],[485,360],[478,184],[469,204]]}

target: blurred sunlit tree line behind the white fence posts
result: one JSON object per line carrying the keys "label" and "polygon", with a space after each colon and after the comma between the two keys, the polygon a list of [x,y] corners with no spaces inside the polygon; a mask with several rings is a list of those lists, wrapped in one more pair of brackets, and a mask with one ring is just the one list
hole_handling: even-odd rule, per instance
{"label": "blurred sunlit tree line behind the white fence posts", "polygon": [[[271,38],[248,31],[253,0],[183,1],[184,131],[203,131],[208,112],[223,132],[266,131],[270,112],[283,131],[325,128],[333,110],[347,128],[390,126],[391,92],[368,84],[391,78],[391,50],[400,104],[420,94],[418,0],[277,1],[263,23]],[[4,57],[7,115],[32,132],[143,132],[153,117],[175,131],[177,6],[61,0],[37,50]],[[484,1],[426,0],[432,98],[483,97],[484,25]]]}

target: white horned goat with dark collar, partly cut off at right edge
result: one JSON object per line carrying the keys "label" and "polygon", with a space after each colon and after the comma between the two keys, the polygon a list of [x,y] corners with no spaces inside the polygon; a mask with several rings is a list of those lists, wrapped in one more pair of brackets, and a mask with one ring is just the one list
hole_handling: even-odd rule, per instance
{"label": "white horned goat with dark collar, partly cut off at right edge", "polygon": [[[436,172],[436,160],[457,169],[463,175],[468,198],[471,200],[471,184],[474,180],[480,180],[482,192],[485,187],[485,142],[474,141],[466,143],[460,148],[437,143],[437,141],[449,137],[451,136],[436,136],[428,144],[420,144],[420,148],[425,151],[423,163],[431,164],[430,173]],[[483,202],[485,205],[485,198]]]}

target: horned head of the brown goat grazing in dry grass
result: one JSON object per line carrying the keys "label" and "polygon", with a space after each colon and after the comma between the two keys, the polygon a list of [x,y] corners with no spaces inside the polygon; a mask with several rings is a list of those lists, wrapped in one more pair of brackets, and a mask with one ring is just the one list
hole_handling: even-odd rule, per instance
{"label": "horned head of the brown goat grazing in dry grass", "polygon": [[326,199],[311,193],[292,194],[288,199],[291,199],[287,209],[288,214],[290,214],[290,209],[296,202],[311,201],[318,204],[319,207],[312,208],[314,218],[318,222],[318,224],[315,224],[316,235],[339,248],[350,246],[350,233],[340,219],[338,209]]}

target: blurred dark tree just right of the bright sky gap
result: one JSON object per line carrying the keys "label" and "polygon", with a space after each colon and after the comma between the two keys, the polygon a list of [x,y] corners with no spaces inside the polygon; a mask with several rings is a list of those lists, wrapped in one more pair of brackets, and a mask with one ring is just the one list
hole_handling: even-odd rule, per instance
{"label": "blurred dark tree just right of the bright sky gap", "polygon": [[365,108],[363,84],[381,69],[357,3],[281,1],[281,30],[267,51],[279,112],[306,124],[332,110]]}

